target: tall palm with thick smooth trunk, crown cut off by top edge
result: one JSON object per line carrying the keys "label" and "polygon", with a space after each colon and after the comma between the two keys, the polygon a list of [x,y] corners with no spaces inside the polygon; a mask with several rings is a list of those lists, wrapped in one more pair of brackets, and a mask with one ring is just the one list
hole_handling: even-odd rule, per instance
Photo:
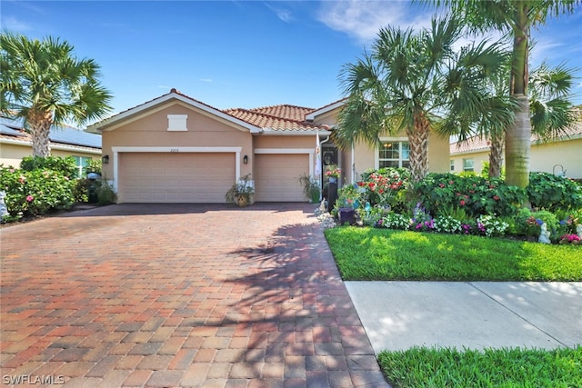
{"label": "tall palm with thick smooth trunk, crown cut off by top edge", "polygon": [[513,37],[509,93],[515,96],[519,110],[514,124],[506,131],[507,184],[529,184],[529,149],[532,133],[527,99],[529,30],[543,25],[547,18],[572,13],[579,0],[424,0],[451,7],[453,15],[477,31],[494,28]]}

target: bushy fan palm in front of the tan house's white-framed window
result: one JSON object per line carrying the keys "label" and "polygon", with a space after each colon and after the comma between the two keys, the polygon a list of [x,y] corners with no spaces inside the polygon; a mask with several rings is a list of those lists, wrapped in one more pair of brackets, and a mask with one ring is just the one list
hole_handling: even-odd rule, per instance
{"label": "bushy fan palm in front of the tan house's white-framed window", "polygon": [[485,42],[455,52],[460,34],[454,19],[433,19],[431,29],[418,34],[394,27],[380,30],[372,53],[342,68],[347,100],[333,134],[336,144],[344,149],[357,141],[378,144],[381,134],[405,133],[417,182],[427,173],[431,131],[469,127],[477,120],[509,120],[511,112],[493,104],[484,82],[496,74],[507,53]]}

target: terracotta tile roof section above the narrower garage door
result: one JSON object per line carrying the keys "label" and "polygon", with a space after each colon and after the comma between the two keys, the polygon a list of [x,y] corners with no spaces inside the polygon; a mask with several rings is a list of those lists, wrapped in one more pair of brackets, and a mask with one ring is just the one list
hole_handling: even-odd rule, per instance
{"label": "terracotta tile roof section above the narrower garage door", "polygon": [[[327,130],[329,129],[327,125],[315,125],[306,122],[305,114],[300,116],[300,119],[292,119],[286,116],[298,116],[300,112],[308,108],[301,108],[298,106],[292,107],[292,105],[276,105],[267,106],[266,108],[257,109],[226,109],[226,114],[230,114],[239,120],[243,120],[248,124],[255,125],[263,129],[273,129],[276,131],[313,131],[316,129]],[[282,116],[277,116],[275,114],[266,114],[263,111],[281,114]],[[311,111],[311,110],[310,110]]]}

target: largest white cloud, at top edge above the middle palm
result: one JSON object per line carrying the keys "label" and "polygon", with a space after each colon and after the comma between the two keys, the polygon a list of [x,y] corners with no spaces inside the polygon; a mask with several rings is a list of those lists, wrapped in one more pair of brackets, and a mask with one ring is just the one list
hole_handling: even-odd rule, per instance
{"label": "largest white cloud, at top edge above the middle palm", "polygon": [[433,12],[418,12],[409,1],[324,1],[317,13],[328,27],[369,43],[387,25],[420,29],[430,25]]}

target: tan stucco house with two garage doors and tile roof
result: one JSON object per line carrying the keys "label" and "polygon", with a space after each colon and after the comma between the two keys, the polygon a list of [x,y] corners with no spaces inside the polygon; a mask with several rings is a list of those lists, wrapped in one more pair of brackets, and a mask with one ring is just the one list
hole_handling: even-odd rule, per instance
{"label": "tan stucco house with two garage doors and tile roof", "polygon": [[[257,202],[304,202],[299,176],[321,175],[317,135],[322,164],[339,164],[347,183],[368,168],[407,164],[406,137],[384,139],[381,151],[363,144],[338,151],[329,136],[344,102],[222,111],[172,89],[88,130],[102,134],[109,160],[103,173],[120,203],[224,203],[228,188],[246,174]],[[430,141],[431,171],[446,172],[448,139]]]}

